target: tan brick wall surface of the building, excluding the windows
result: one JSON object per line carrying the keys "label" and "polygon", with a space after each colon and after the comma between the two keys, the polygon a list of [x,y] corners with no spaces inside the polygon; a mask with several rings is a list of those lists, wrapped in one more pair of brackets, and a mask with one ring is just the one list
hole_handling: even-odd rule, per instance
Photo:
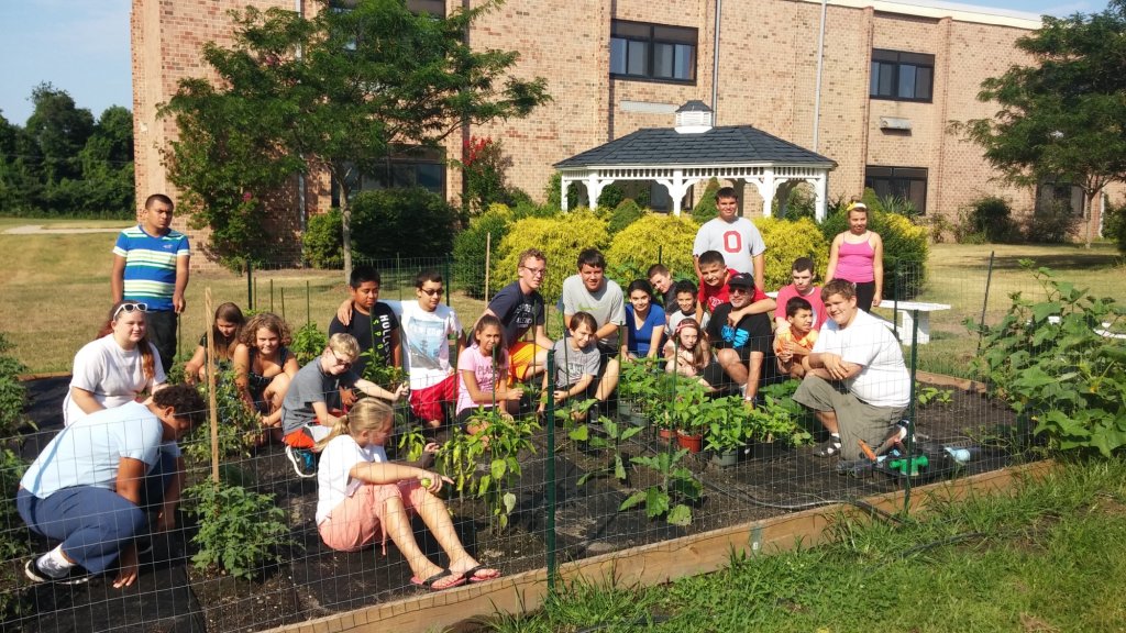
{"label": "tan brick wall surface of the building, excluding the windows", "polygon": [[[468,0],[467,0],[468,1]],[[303,0],[309,8],[315,5]],[[450,10],[462,0],[447,0]],[[155,118],[155,107],[185,77],[207,74],[199,55],[203,43],[231,43],[227,11],[252,5],[293,8],[292,0],[134,0],[133,71],[136,133],[137,198],[168,190],[159,148],[175,135],[173,125]],[[874,2],[879,5],[878,2]],[[813,148],[817,35],[821,5],[804,0],[727,2],[723,7],[720,45],[717,123],[750,124],[835,160],[830,197],[859,194],[869,164],[921,167],[928,170],[928,213],[956,219],[959,208],[985,194],[1010,198],[1030,208],[1031,191],[991,181],[997,173],[980,149],[947,133],[948,122],[992,114],[980,104],[980,83],[1026,60],[1013,48],[1028,33],[942,17],[881,12],[872,7],[828,7],[821,91],[819,146]],[[885,5],[881,5],[882,7]],[[464,130],[446,143],[448,155],[461,157],[470,135],[503,141],[512,159],[511,185],[542,198],[552,163],[642,127],[672,125],[672,115],[623,108],[623,101],[679,106],[689,99],[712,100],[714,0],[524,0],[486,14],[470,34],[477,48],[520,53],[513,72],[544,77],[553,100],[525,119],[493,122]],[[928,11],[920,11],[928,12]],[[627,19],[698,29],[697,79],[691,84],[611,80],[610,20]],[[868,98],[873,47],[935,55],[933,101],[917,104]],[[910,133],[881,130],[879,118],[911,122]],[[461,197],[461,175],[447,173],[452,200]],[[1117,195],[1120,195],[1120,189]],[[306,211],[329,205],[328,180],[311,178]],[[748,188],[744,206],[758,207]],[[302,215],[294,195],[275,206],[279,251],[296,252]],[[177,220],[182,229],[182,219]],[[196,243],[205,239],[190,232]],[[203,265],[202,259],[194,262]]]}

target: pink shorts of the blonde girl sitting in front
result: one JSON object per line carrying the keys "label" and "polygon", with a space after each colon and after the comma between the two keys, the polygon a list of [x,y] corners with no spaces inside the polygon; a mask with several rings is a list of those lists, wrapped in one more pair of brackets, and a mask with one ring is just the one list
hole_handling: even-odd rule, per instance
{"label": "pink shorts of the blonde girl sitting in front", "polygon": [[426,489],[417,479],[381,485],[366,483],[333,508],[316,531],[321,533],[324,544],[333,550],[355,552],[378,540],[386,555],[387,532],[383,526],[386,523],[387,500],[402,499],[409,520],[426,494]]}

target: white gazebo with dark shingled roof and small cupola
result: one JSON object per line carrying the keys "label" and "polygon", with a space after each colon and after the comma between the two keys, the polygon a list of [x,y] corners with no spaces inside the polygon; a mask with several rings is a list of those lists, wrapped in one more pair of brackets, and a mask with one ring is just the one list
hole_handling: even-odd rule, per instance
{"label": "white gazebo with dark shingled roof and small cupola", "polygon": [[820,221],[825,216],[829,171],[837,163],[750,125],[713,127],[712,109],[703,101],[688,101],[677,110],[673,128],[638,130],[554,167],[562,175],[564,211],[572,182],[586,186],[588,199],[597,200],[616,180],[652,180],[664,186],[672,213],[680,215],[688,188],[716,178],[753,185],[762,198],[762,215],[768,217],[776,197],[779,214],[785,215],[790,189],[810,182]]}

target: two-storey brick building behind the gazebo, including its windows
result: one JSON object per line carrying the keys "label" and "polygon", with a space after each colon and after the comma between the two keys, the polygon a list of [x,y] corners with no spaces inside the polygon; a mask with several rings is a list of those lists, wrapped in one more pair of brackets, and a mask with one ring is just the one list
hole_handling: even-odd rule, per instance
{"label": "two-storey brick building behind the gazebo, including its windows", "polygon": [[[176,130],[157,118],[158,105],[179,79],[206,75],[200,45],[230,44],[227,11],[247,5],[313,11],[319,2],[133,0],[137,199],[170,189],[160,149]],[[475,24],[470,42],[519,51],[515,74],[546,78],[553,100],[528,118],[465,130],[446,151],[459,157],[471,135],[501,139],[510,184],[540,197],[553,163],[638,128],[671,127],[676,108],[697,99],[715,109],[716,125],[753,125],[835,161],[830,198],[867,185],[950,220],[983,194],[1026,211],[1035,191],[991,181],[981,150],[946,127],[995,109],[976,100],[982,80],[1027,62],[1013,42],[1039,26],[1030,14],[938,0],[509,0]],[[366,186],[419,184],[457,199],[459,173],[441,159],[396,164]],[[276,205],[293,244],[307,215],[332,203],[330,182],[311,180]],[[757,199],[752,189],[745,196]]]}

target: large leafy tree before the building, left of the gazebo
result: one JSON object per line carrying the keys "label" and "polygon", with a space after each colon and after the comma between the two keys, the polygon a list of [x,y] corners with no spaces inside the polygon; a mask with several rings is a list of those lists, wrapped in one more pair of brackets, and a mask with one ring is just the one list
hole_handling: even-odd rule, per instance
{"label": "large leafy tree before the building, left of the gazebo", "polygon": [[[473,51],[465,34],[490,0],[445,19],[404,0],[323,2],[312,17],[283,9],[235,12],[234,44],[204,46],[218,80],[181,81],[162,108],[180,139],[166,155],[199,211],[208,182],[261,197],[284,173],[324,170],[340,188],[345,275],[351,269],[357,175],[411,146],[437,146],[465,125],[526,116],[546,101],[545,81],[507,77],[517,53]],[[232,167],[202,162],[239,157]],[[222,182],[217,182],[222,180]],[[215,213],[208,211],[207,213]]]}

